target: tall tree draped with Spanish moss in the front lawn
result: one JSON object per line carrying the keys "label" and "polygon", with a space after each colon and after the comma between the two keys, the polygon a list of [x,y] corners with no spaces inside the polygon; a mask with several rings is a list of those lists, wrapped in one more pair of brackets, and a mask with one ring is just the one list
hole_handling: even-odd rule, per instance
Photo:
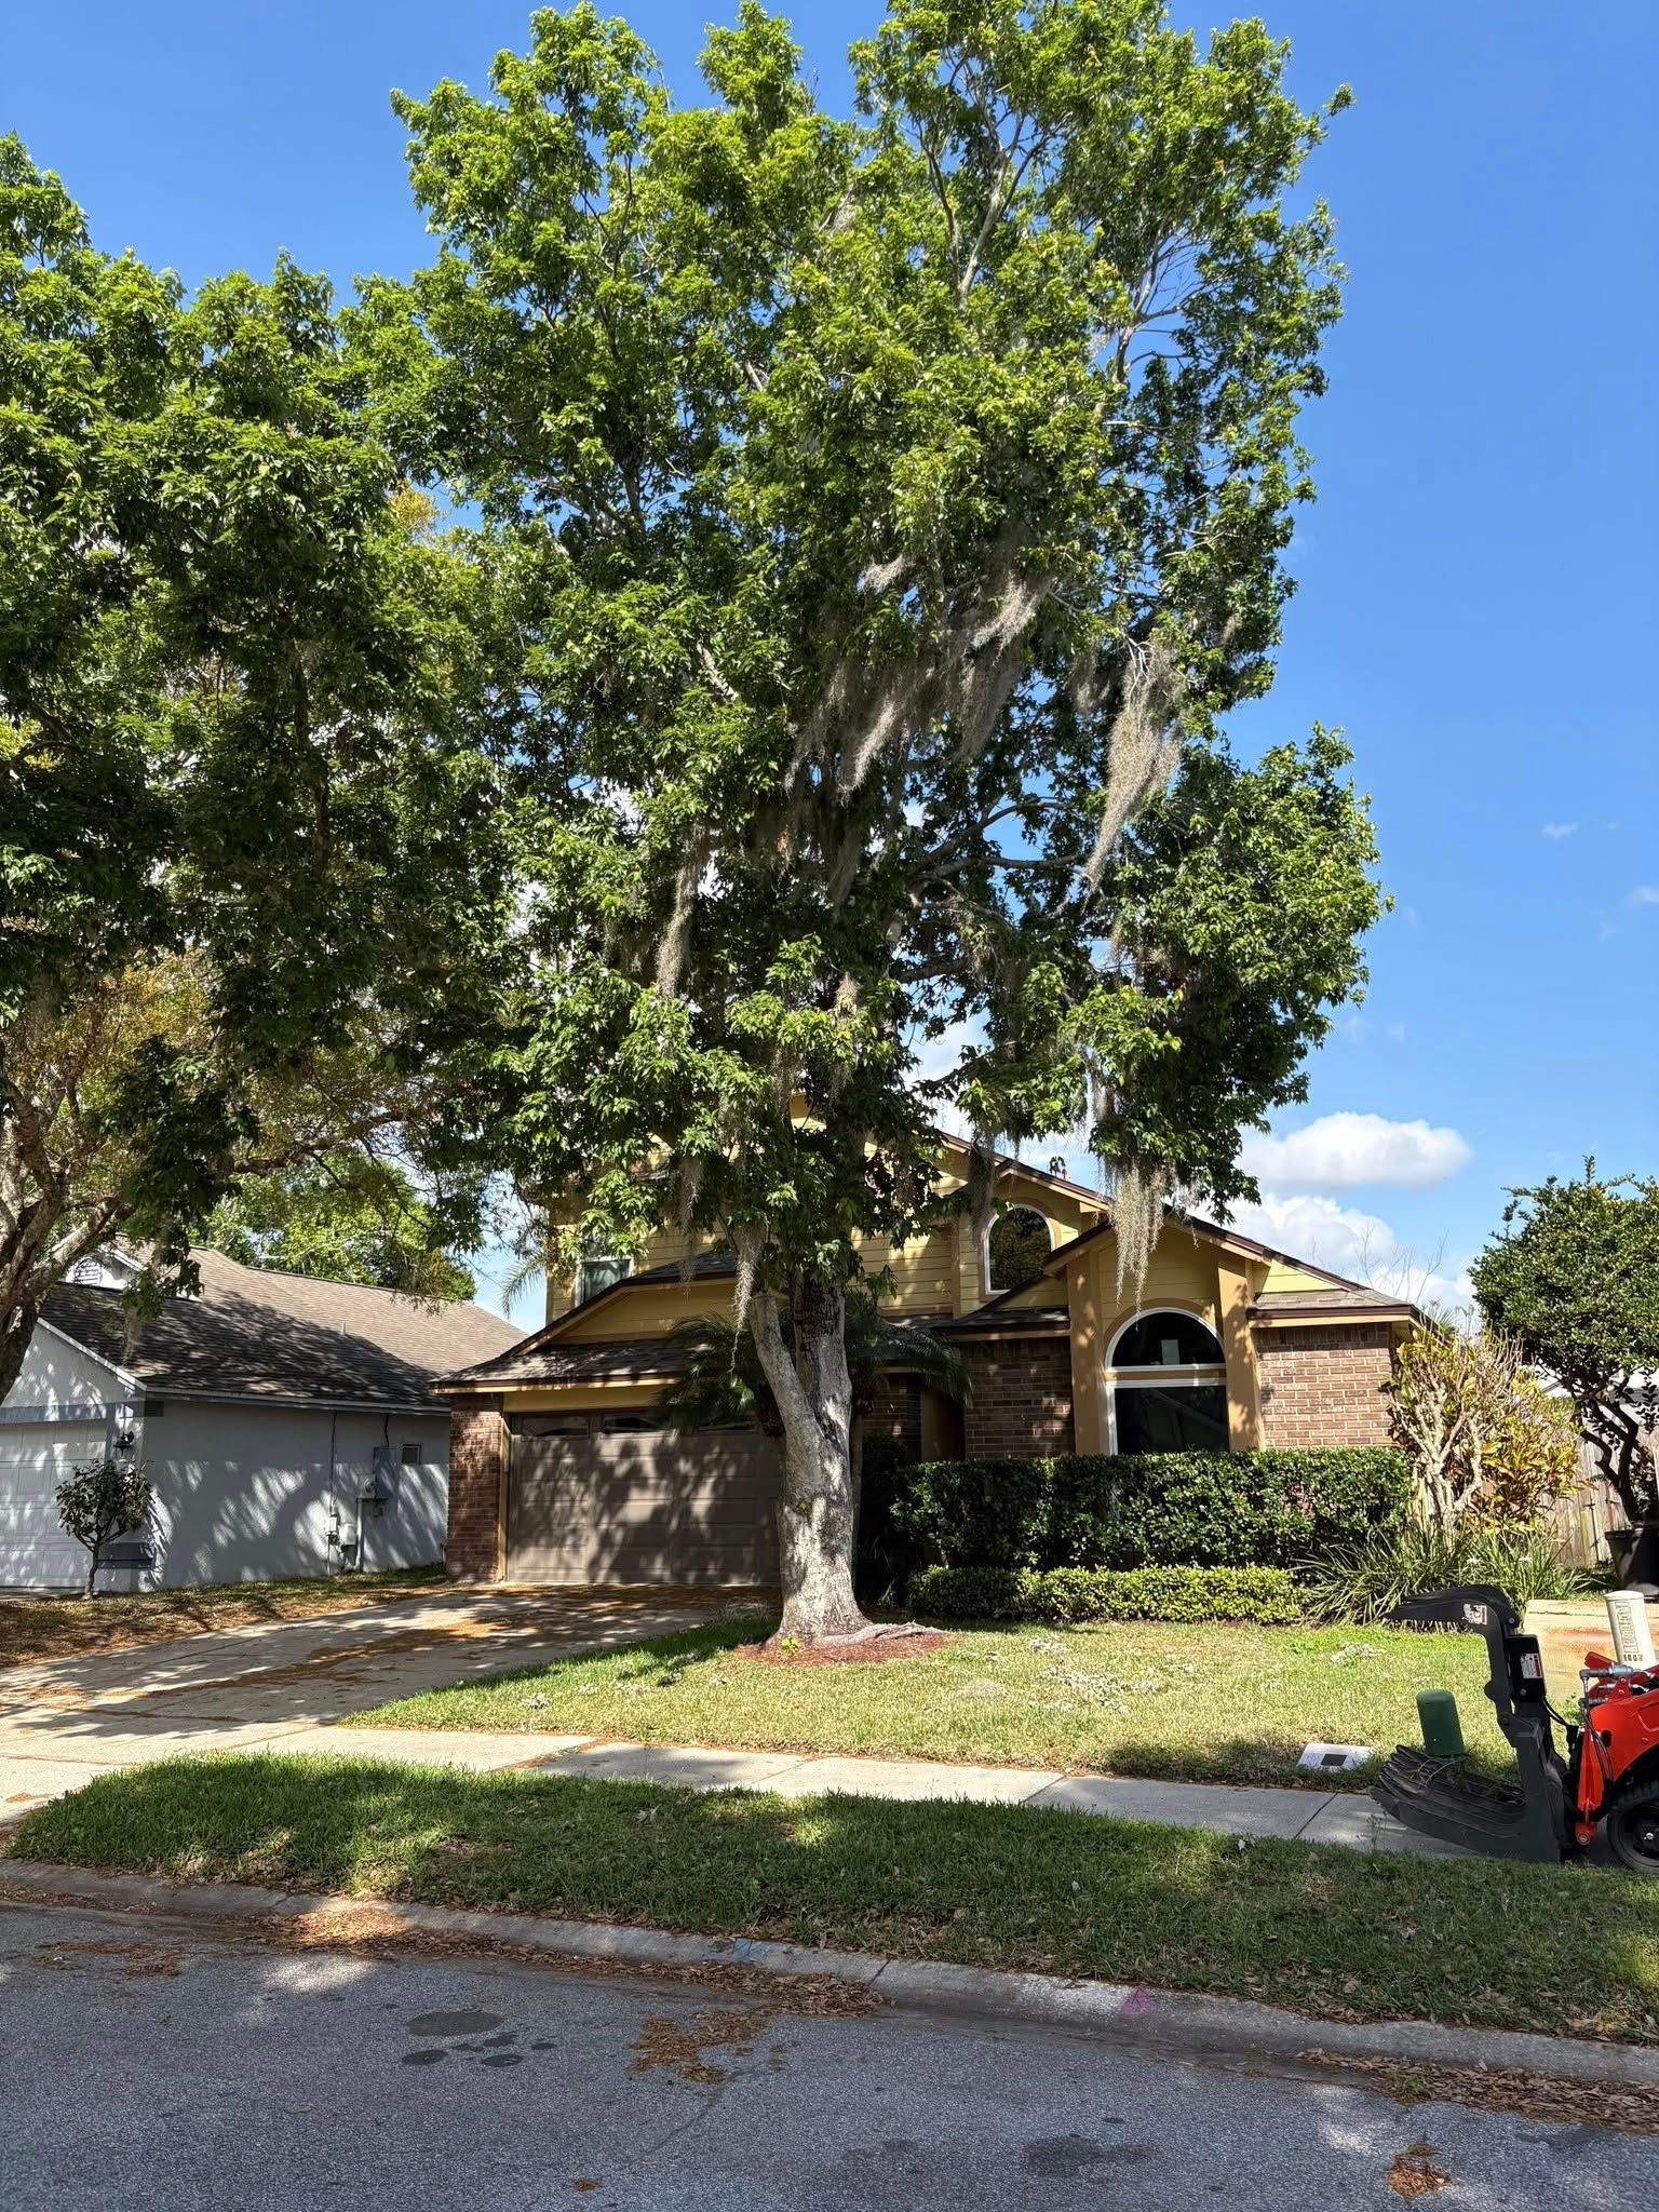
{"label": "tall tree draped with Spanish moss in the front lawn", "polygon": [[737,1254],[803,1639],[865,1628],[845,1305],[938,1203],[938,1104],[982,1148],[1086,1119],[1133,1267],[1250,1188],[1378,907],[1340,743],[1221,734],[1338,310],[1283,44],[891,0],[852,60],[836,117],[743,0],[677,106],[624,22],[540,11],[487,93],[398,100],[438,254],[352,327],[522,641],[469,1102],[575,1237]]}

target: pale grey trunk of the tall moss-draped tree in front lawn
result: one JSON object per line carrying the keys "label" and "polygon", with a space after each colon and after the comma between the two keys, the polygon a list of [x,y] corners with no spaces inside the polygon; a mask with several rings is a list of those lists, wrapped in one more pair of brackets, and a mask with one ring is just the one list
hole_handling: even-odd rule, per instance
{"label": "pale grey trunk of the tall moss-draped tree in front lawn", "polygon": [[838,1283],[799,1276],[790,1318],[794,1347],[783,1343],[772,1294],[759,1290],[750,1298],[754,1347],[783,1413],[779,1639],[827,1644],[872,1632],[852,1590],[856,1506],[845,1292]]}

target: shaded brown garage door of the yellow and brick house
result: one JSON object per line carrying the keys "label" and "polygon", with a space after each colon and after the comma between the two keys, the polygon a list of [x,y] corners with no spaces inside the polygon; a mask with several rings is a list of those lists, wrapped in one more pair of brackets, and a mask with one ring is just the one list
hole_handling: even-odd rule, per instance
{"label": "shaded brown garage door of the yellow and brick house", "polygon": [[513,1436],[511,1582],[779,1579],[779,1453],[754,1429]]}

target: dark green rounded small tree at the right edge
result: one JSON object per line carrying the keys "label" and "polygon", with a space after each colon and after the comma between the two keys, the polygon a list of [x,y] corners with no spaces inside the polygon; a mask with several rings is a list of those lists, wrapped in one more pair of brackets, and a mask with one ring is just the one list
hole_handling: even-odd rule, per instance
{"label": "dark green rounded small tree at the right edge", "polygon": [[1551,1177],[1513,1190],[1504,1230],[1475,1261],[1489,1325],[1513,1336],[1573,1400],[1601,1475],[1632,1522],[1652,1511],[1641,1378],[1659,1369],[1659,1181]]}

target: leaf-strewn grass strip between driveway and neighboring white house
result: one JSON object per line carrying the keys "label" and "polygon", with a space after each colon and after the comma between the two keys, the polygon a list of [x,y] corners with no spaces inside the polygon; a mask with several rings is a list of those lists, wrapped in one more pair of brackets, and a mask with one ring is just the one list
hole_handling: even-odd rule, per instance
{"label": "leaf-strewn grass strip between driveway and neighboring white house", "polygon": [[0,1666],[24,1659],[77,1659],[135,1650],[212,1628],[254,1621],[305,1621],[394,1597],[440,1588],[440,1566],[383,1575],[316,1575],[305,1582],[221,1582],[201,1590],[146,1590],[139,1597],[0,1597]]}

